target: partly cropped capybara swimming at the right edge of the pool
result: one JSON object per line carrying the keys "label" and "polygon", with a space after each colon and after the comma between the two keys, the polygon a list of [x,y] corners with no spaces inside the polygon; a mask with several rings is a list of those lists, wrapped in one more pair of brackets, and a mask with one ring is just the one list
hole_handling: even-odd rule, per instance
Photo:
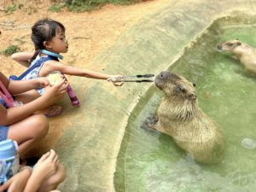
{"label": "partly cropped capybara swimming at the right edge of the pool", "polygon": [[256,49],[253,47],[243,44],[239,40],[231,40],[218,44],[217,48],[234,53],[241,64],[244,65],[247,73],[256,73]]}

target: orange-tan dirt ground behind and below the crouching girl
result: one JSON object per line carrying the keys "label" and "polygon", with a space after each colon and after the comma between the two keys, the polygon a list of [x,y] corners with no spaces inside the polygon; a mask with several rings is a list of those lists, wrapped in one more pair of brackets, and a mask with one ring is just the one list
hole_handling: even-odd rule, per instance
{"label": "orange-tan dirt ground behind and below the crouching girl", "polygon": [[[22,8],[13,14],[6,14],[3,9],[12,4],[11,0],[0,1],[0,51],[9,45],[18,45],[20,51],[33,51],[33,44],[30,39],[31,26],[41,18],[49,17],[61,21],[66,27],[68,38],[68,53],[64,54],[63,63],[75,67],[83,67],[101,71],[104,66],[97,67],[90,64],[97,55],[111,47],[115,41],[130,26],[138,20],[150,15],[154,11],[169,3],[169,0],[146,1],[125,6],[106,5],[85,13],[73,13],[67,9],[60,13],[50,12],[49,0],[19,0]],[[26,69],[10,59],[10,56],[0,55],[0,71],[5,75],[20,75]],[[99,68],[99,66],[101,68]],[[72,78],[67,77],[72,83]],[[67,112],[67,111],[66,111]],[[67,118],[71,113],[66,113]],[[64,117],[61,115],[61,117]],[[43,151],[54,146],[65,130],[65,120],[61,117],[50,119],[49,136],[45,138],[48,143],[44,144]],[[63,128],[64,127],[64,128]],[[41,143],[42,144],[42,143]],[[41,146],[40,144],[40,146]]]}

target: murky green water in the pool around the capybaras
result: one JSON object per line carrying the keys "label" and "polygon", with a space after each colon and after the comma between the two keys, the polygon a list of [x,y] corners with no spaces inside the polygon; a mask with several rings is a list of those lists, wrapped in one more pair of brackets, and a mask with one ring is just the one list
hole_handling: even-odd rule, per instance
{"label": "murky green water in the pool around the capybaras", "polygon": [[168,137],[140,128],[157,110],[163,93],[152,86],[137,105],[126,127],[114,177],[116,191],[125,192],[254,192],[256,148],[256,76],[247,76],[239,61],[216,45],[239,38],[256,47],[256,27],[210,27],[170,70],[196,84],[201,109],[223,131],[224,160],[215,166],[196,164]]}

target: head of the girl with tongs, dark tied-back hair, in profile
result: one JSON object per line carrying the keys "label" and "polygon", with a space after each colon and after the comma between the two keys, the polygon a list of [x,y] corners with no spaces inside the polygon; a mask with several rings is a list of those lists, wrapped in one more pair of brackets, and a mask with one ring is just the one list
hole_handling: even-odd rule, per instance
{"label": "head of the girl with tongs, dark tied-back hair, in profile", "polygon": [[67,52],[67,40],[65,37],[65,26],[56,20],[38,20],[32,26],[32,42],[36,51],[48,49],[56,53]]}

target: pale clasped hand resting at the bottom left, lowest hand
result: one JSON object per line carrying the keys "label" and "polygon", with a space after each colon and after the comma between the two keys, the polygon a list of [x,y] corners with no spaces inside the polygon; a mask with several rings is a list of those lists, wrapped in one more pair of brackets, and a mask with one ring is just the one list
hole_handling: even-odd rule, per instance
{"label": "pale clasped hand resting at the bottom left, lowest hand", "polygon": [[59,164],[58,155],[51,149],[48,153],[44,154],[38,163],[34,166],[32,174],[40,177],[42,180],[52,176]]}

